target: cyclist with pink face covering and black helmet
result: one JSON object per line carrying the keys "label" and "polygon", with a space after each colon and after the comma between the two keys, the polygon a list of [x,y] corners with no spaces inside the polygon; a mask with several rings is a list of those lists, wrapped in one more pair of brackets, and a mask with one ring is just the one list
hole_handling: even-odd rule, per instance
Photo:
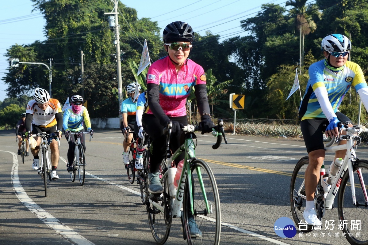
{"label": "cyclist with pink face covering and black helmet", "polygon": [[[84,124],[86,124],[87,131],[93,134],[91,129],[91,121],[89,120],[89,114],[87,108],[83,104],[83,98],[79,95],[74,95],[70,98],[71,106],[64,111],[63,116],[63,128],[65,130],[65,138],[68,139],[70,132],[84,132]],[[77,137],[77,136],[75,136]],[[67,171],[73,172],[73,159],[75,150],[75,137],[68,142],[68,164]],[[86,151],[85,135],[82,134],[82,145],[84,151]]]}

